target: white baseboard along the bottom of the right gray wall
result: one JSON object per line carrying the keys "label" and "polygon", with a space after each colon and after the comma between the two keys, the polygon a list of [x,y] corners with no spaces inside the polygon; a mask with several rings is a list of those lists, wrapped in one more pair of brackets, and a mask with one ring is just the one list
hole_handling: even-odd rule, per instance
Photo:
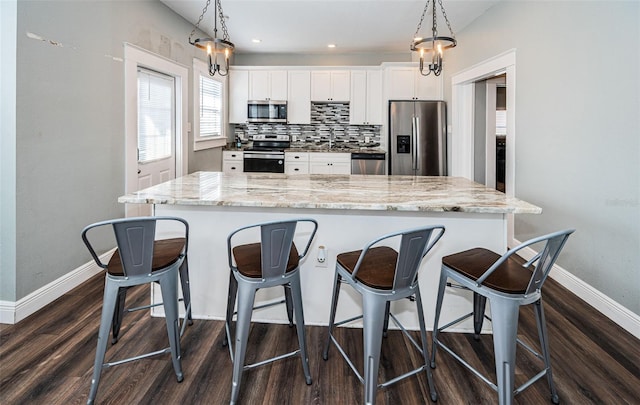
{"label": "white baseboard along the bottom of the right gray wall", "polygon": [[[520,244],[517,240],[514,240],[514,242]],[[529,260],[537,252],[530,247],[526,247],[520,250],[519,254],[525,260]],[[621,328],[640,339],[640,315],[634,314],[557,264],[553,265],[549,276],[604,316],[617,323]]]}

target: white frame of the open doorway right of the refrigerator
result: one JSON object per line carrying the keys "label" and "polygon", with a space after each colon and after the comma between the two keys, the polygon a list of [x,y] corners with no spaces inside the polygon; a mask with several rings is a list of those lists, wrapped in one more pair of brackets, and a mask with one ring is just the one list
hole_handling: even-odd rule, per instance
{"label": "white frame of the open doorway right of the refrigerator", "polygon": [[[505,173],[506,194],[515,196],[515,141],[516,141],[516,50],[511,49],[487,59],[451,78],[451,117],[455,134],[451,139],[451,175],[473,180],[474,139],[474,83],[479,80],[507,74],[507,161]],[[513,246],[513,214],[507,214],[507,245]]]}

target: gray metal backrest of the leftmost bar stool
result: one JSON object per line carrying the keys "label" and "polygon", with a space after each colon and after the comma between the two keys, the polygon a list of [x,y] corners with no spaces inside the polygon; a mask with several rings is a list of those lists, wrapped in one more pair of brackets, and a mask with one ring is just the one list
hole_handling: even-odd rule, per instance
{"label": "gray metal backrest of the leftmost bar stool", "polygon": [[[185,238],[188,237],[189,226],[182,218],[177,217],[133,217],[112,219],[96,222],[84,228],[82,240],[89,249],[95,262],[102,268],[107,265],[98,258],[93,246],[89,242],[87,233],[94,228],[111,225],[118,247],[118,254],[122,261],[125,277],[150,274],[153,264],[153,248],[156,237],[157,221],[179,221],[185,226]],[[185,254],[188,242],[185,243]]]}

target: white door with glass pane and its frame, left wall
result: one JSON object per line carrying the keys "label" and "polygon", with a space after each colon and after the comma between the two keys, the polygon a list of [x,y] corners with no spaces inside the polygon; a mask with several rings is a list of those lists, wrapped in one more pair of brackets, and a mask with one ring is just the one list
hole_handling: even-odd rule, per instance
{"label": "white door with glass pane and its frame, left wall", "polygon": [[[132,193],[187,173],[189,70],[131,44],[125,44],[124,56],[125,190]],[[127,217],[151,213],[144,204],[125,209]]]}

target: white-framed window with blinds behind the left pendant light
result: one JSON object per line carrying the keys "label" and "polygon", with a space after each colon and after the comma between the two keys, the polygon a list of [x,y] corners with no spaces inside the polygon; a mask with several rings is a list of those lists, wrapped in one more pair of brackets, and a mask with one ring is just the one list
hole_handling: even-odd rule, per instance
{"label": "white-framed window with blinds behind the left pendant light", "polygon": [[207,65],[193,60],[194,150],[224,146],[226,77],[210,76]]}

